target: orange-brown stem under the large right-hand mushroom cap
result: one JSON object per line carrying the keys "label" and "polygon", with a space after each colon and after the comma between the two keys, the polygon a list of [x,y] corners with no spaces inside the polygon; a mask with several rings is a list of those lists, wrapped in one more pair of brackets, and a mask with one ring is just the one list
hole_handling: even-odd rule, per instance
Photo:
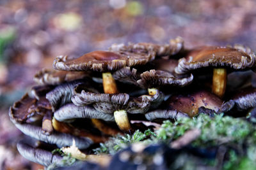
{"label": "orange-brown stem under the large right-hand mushroom cap", "polygon": [[214,68],[212,76],[212,92],[219,97],[223,97],[227,84],[227,69]]}

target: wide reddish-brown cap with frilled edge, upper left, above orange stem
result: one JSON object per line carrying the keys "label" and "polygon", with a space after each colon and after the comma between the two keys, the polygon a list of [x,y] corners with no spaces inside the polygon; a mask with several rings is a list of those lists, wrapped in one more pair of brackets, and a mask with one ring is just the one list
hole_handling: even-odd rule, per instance
{"label": "wide reddish-brown cap with frilled edge, upper left, above orange stem", "polygon": [[77,59],[58,56],[54,62],[54,69],[65,71],[114,71],[125,66],[146,64],[154,60],[150,53],[94,51],[86,53]]}

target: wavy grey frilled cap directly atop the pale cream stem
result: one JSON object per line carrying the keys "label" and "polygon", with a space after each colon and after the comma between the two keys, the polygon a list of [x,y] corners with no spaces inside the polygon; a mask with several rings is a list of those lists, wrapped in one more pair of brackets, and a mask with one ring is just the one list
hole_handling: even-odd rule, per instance
{"label": "wavy grey frilled cap directly atop the pale cream stem", "polygon": [[79,89],[79,85],[74,90],[72,102],[77,106],[93,104],[93,107],[102,113],[113,113],[116,110],[125,110],[128,113],[145,113],[150,106],[161,104],[164,95],[157,90],[154,96],[143,95],[140,97],[130,97],[129,94],[97,94],[85,92]]}

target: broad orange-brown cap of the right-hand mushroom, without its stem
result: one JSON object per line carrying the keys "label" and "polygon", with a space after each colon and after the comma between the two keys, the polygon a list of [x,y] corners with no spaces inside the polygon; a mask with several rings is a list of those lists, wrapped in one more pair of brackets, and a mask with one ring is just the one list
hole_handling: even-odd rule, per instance
{"label": "broad orange-brown cap of the right-hand mushroom, without its stem", "polygon": [[177,74],[188,73],[201,67],[228,67],[243,70],[255,66],[255,54],[242,46],[202,46],[190,50],[175,67]]}

